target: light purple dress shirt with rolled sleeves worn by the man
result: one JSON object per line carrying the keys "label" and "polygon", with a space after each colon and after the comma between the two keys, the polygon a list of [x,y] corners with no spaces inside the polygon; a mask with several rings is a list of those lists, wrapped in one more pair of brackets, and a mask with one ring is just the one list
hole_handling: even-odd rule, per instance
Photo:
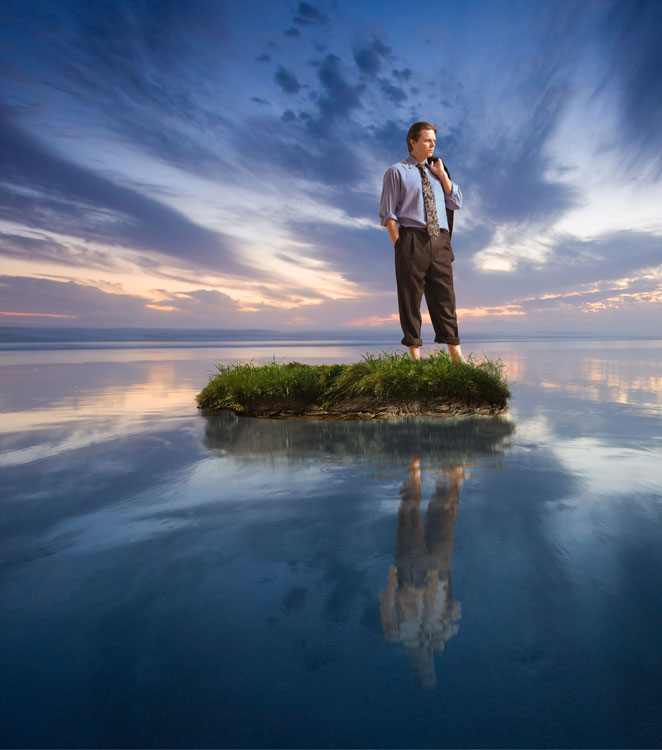
{"label": "light purple dress shirt with rolled sleeves worn by the man", "polygon": [[[382,226],[386,226],[387,219],[395,219],[403,227],[427,228],[421,173],[418,171],[417,164],[416,159],[410,154],[406,159],[394,164],[386,171],[382,200],[379,206],[379,218]],[[446,195],[441,180],[430,170],[427,164],[425,170],[437,204],[439,228],[448,229],[446,209],[457,211],[462,208],[462,193],[459,186],[453,183],[453,191],[450,195]]]}

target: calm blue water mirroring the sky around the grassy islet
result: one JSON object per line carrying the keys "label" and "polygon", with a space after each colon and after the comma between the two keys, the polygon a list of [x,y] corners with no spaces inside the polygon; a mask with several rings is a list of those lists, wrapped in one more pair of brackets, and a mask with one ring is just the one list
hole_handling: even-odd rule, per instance
{"label": "calm blue water mirroring the sky around the grassy islet", "polygon": [[2,745],[662,746],[662,342],[470,348],[506,417],[196,412],[346,345],[4,352]]}

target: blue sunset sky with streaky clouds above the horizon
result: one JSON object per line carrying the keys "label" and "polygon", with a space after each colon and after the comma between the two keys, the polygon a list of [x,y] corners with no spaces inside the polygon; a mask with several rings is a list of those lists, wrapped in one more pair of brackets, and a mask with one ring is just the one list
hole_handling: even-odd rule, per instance
{"label": "blue sunset sky with streaky clouds above the horizon", "polygon": [[658,0],[0,0],[0,325],[395,331],[427,120],[461,334],[659,335],[660,39]]}

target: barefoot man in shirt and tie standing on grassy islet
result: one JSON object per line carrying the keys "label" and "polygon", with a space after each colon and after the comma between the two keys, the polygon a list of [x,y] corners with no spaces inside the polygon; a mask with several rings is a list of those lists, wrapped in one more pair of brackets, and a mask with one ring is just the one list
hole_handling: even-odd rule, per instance
{"label": "barefoot man in shirt and tie standing on grassy islet", "polygon": [[395,248],[402,343],[409,347],[412,359],[421,358],[421,298],[425,294],[434,340],[447,344],[451,357],[464,362],[446,217],[446,209],[462,207],[462,193],[440,158],[427,162],[434,153],[436,133],[429,122],[415,122],[409,128],[409,156],[384,175],[379,216]]}

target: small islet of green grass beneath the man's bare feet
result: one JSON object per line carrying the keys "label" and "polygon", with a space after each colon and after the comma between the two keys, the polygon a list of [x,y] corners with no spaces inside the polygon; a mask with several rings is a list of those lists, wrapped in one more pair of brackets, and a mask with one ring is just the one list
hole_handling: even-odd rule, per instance
{"label": "small islet of green grass beneath the man's bare feet", "polygon": [[505,406],[510,397],[500,361],[470,358],[453,362],[446,352],[414,361],[405,354],[366,355],[347,365],[219,365],[218,374],[198,394],[202,409],[252,413],[277,404],[281,409],[339,407],[347,402],[375,406],[447,401],[467,407]]}

